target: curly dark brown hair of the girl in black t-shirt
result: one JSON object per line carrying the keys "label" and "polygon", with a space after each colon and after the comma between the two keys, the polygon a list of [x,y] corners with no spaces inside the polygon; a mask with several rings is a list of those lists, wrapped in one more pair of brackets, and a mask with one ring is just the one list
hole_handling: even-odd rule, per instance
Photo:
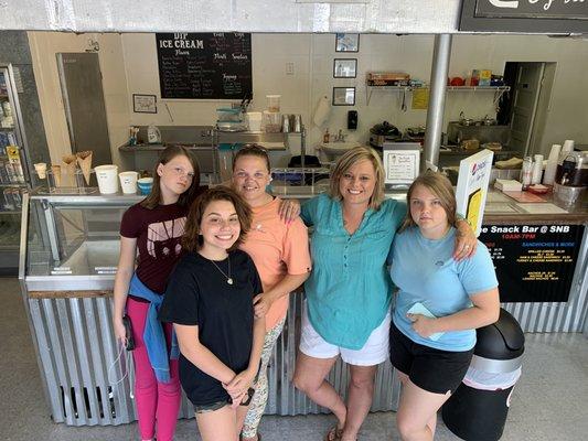
{"label": "curly dark brown hair of the girl in black t-shirt", "polygon": [[202,223],[206,207],[214,201],[231,202],[239,218],[239,237],[229,250],[236,249],[245,240],[245,236],[252,227],[252,208],[249,208],[249,205],[237,194],[237,192],[229,187],[218,185],[201,193],[190,207],[184,235],[182,236],[182,248],[188,251],[197,251],[202,247],[200,224]]}

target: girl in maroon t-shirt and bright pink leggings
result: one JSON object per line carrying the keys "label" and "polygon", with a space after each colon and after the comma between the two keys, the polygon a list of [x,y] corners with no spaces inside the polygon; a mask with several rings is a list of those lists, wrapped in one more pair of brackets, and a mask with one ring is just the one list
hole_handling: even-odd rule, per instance
{"label": "girl in maroon t-shirt and bright pink leggings", "polygon": [[[181,402],[178,359],[169,359],[169,381],[156,377],[143,333],[150,302],[129,293],[133,276],[156,295],[165,291],[168,277],[182,255],[180,239],[185,217],[194,200],[200,169],[189,150],[168,147],[160,155],[153,173],[151,193],[131,206],[120,224],[120,257],[115,278],[115,336],[126,343],[122,315],[125,310],[132,324],[136,348],[135,397],[141,440],[171,441]],[[137,267],[136,267],[137,261]],[[171,323],[163,324],[168,356],[171,347]],[[163,340],[163,338],[162,338]]]}

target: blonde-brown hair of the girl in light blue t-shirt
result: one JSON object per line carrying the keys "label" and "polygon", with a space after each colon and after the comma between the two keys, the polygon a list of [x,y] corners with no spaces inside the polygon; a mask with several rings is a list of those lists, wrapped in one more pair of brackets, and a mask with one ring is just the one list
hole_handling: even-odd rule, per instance
{"label": "blonde-brown hair of the girl in light blue t-shirt", "polygon": [[432,194],[435,194],[435,196],[439,198],[439,202],[441,203],[441,206],[443,207],[445,213],[447,214],[447,223],[449,225],[455,226],[457,220],[457,202],[456,193],[453,192],[451,182],[449,182],[449,180],[443,174],[427,170],[425,173],[419,175],[413,182],[413,184],[410,184],[410,187],[406,193],[406,203],[408,205],[408,209],[406,211],[406,217],[398,233],[404,232],[408,227],[416,226],[415,220],[413,220],[413,216],[410,215],[410,198],[413,197],[413,192],[418,185],[427,187]]}

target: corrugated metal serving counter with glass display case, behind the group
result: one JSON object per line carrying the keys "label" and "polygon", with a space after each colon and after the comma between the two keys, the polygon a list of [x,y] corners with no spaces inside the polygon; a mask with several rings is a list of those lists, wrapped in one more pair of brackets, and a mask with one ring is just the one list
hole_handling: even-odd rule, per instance
{"label": "corrugated metal serving counter with glass display case, behind the group", "polygon": [[[301,190],[304,194],[281,191],[280,196],[304,198],[313,193]],[[388,197],[403,200],[405,195],[394,193]],[[140,200],[141,196],[98,194],[33,195],[24,200],[20,281],[47,402],[56,422],[120,424],[136,419],[124,358],[117,361],[111,290],[120,218],[128,206]],[[545,215],[530,214],[520,205],[490,198],[484,225],[537,225],[538,230],[545,225],[576,225],[582,232],[581,243],[574,245],[578,249],[570,290],[564,293],[567,301],[507,302],[503,306],[526,332],[582,332],[588,310],[586,209],[579,206],[567,214]],[[325,411],[291,383],[301,305],[302,294],[292,294],[285,331],[269,365],[266,413]],[[348,379],[348,368],[339,362],[329,380],[344,395]],[[398,380],[386,362],[377,370],[372,410],[395,410],[398,395]],[[185,397],[180,417],[193,417]]]}

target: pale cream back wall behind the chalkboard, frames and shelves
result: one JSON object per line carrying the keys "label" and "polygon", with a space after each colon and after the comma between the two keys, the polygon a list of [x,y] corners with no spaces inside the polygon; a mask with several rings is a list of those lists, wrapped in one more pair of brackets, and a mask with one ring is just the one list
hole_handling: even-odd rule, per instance
{"label": "pale cream back wall behind the chalkboard, frames and shelves", "polygon": [[[430,78],[434,37],[431,35],[362,34],[359,53],[336,53],[333,34],[254,34],[253,73],[254,110],[265,108],[265,95],[282,95],[282,112],[302,114],[310,129],[309,144],[322,140],[328,127],[336,132],[345,129],[350,109],[359,111],[360,125],[350,139],[366,142],[368,129],[383,120],[400,129],[425,125],[426,110],[410,109],[411,94],[407,94],[408,110],[400,110],[402,94],[397,90],[374,90],[366,104],[365,75],[371,71],[402,71],[414,78]],[[132,93],[156,94],[159,100],[156,43],[153,34],[125,34],[125,65]],[[357,58],[356,78],[333,78],[333,60]],[[588,101],[588,42],[585,40],[549,39],[527,35],[455,35],[449,76],[464,77],[472,68],[490,68],[502,74],[504,64],[512,62],[556,62],[557,74],[548,110],[546,150],[550,143],[564,139],[588,141],[585,128],[588,112],[578,112],[575,105]],[[293,75],[286,74],[286,63],[293,63]],[[310,123],[314,106],[321,95],[332,96],[333,86],[356,87],[354,107],[333,107],[329,121],[321,128]],[[130,98],[129,98],[130,99]],[[443,128],[457,120],[460,111],[469,117],[495,116],[494,94],[489,92],[450,92],[446,99]],[[221,101],[164,100],[159,114],[132,114],[135,125],[170,125],[164,109],[167,103],[177,125],[214,123],[215,108]],[[129,101],[129,106],[130,106]],[[346,131],[346,130],[344,130]]]}

